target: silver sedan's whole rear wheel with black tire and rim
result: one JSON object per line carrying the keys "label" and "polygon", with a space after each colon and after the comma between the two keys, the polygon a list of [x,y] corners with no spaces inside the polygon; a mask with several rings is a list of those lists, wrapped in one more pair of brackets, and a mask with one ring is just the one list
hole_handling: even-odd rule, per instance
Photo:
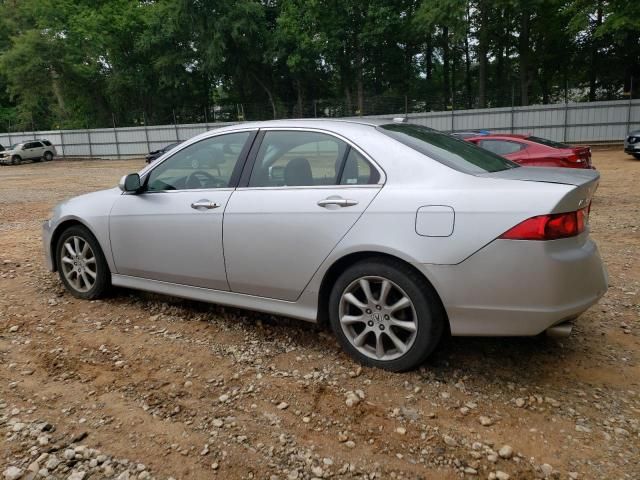
{"label": "silver sedan's whole rear wheel with black tire and rim", "polygon": [[355,360],[402,372],[433,352],[446,315],[419,273],[399,261],[373,258],[340,275],[329,296],[329,320],[340,345]]}

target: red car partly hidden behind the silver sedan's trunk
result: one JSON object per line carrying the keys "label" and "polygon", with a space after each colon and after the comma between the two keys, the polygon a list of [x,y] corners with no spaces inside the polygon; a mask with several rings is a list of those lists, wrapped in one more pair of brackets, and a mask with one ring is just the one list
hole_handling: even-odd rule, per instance
{"label": "red car partly hidden behind the silver sedan's trunk", "polygon": [[572,147],[531,135],[490,134],[465,140],[528,167],[593,168],[589,147]]}

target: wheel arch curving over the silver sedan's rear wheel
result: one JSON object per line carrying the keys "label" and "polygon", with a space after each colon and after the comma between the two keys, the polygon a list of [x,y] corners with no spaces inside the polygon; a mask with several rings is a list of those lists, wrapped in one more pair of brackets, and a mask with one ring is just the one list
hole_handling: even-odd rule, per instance
{"label": "wheel arch curving over the silver sedan's rear wheel", "polygon": [[384,253],[384,252],[370,251],[370,250],[352,252],[347,255],[344,255],[338,258],[337,260],[335,260],[333,264],[331,264],[331,266],[326,270],[322,278],[322,282],[320,283],[320,288],[318,291],[317,319],[318,319],[319,325],[324,327],[329,324],[329,295],[331,294],[331,288],[335,284],[340,274],[344,272],[347,268],[349,268],[351,265],[354,265],[363,260],[373,260],[373,259],[383,259],[387,261],[391,260],[393,262],[402,264],[410,268],[414,272],[416,272],[419,275],[419,277],[424,281],[425,286],[427,288],[430,288],[434,292],[436,298],[438,299],[439,307],[441,308],[442,314],[444,315],[445,330],[447,332],[450,332],[451,329],[449,325],[449,316],[447,315],[447,310],[444,307],[440,294],[436,290],[433,282],[429,280],[429,278],[425,275],[425,273],[420,271],[418,268],[416,268],[413,264],[411,264],[411,262],[408,262],[407,260],[400,258],[396,255],[392,255],[390,253]]}

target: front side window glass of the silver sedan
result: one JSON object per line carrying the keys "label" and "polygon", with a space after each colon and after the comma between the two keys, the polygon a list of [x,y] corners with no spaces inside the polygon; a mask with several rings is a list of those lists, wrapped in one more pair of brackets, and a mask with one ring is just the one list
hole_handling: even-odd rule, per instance
{"label": "front side window glass of the silver sedan", "polygon": [[183,148],[149,174],[147,190],[229,187],[233,171],[250,135],[251,132],[218,135]]}

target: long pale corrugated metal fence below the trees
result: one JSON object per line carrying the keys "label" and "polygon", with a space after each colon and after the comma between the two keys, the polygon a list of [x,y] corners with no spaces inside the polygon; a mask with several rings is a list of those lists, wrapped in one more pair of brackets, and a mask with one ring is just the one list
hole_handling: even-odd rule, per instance
{"label": "long pale corrugated metal fence below the trees", "polygon": [[[486,129],[569,143],[622,142],[627,132],[640,129],[640,100],[412,113],[407,117],[410,123],[442,131]],[[59,156],[130,158],[226,125],[232,123],[2,133],[0,144],[6,147],[47,138],[56,145]]]}

